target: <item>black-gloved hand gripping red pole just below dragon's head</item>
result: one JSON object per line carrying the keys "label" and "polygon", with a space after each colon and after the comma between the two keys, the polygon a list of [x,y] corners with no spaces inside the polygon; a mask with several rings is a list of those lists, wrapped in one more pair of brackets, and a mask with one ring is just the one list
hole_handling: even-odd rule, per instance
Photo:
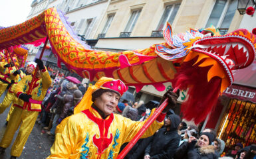
{"label": "black-gloved hand gripping red pole just below dragon's head", "polygon": [[160,101],[159,105],[161,105],[164,102],[164,100],[168,98],[168,105],[166,105],[166,108],[163,110],[164,113],[166,113],[169,109],[176,107],[177,99],[180,95],[180,90],[178,89],[177,93],[174,93],[172,90],[173,89],[169,89],[168,91],[166,91],[166,93],[164,93],[164,96]]}

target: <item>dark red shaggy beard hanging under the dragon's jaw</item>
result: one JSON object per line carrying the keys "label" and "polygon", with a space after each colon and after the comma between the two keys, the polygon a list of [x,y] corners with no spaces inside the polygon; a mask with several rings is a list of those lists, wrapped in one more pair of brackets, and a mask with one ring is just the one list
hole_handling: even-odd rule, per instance
{"label": "dark red shaggy beard hanging under the dragon's jaw", "polygon": [[203,121],[211,110],[214,109],[219,91],[221,88],[221,78],[214,77],[207,81],[207,72],[211,66],[198,67],[199,64],[193,66],[196,58],[190,62],[184,62],[178,70],[174,81],[174,87],[182,90],[188,90],[188,97],[182,103],[182,114],[184,119],[195,122],[195,124]]}

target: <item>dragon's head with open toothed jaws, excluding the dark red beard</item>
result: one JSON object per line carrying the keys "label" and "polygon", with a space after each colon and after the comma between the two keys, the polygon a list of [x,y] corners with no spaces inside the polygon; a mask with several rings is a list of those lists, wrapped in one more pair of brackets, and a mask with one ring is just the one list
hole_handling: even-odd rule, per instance
{"label": "dragon's head with open toothed jaws, excluding the dark red beard", "polygon": [[164,38],[170,48],[159,45],[156,52],[166,60],[184,58],[183,62],[188,62],[197,58],[193,65],[200,63],[199,67],[211,66],[207,80],[215,76],[221,78],[222,92],[234,81],[231,71],[246,68],[255,59],[255,37],[243,28],[221,35],[214,26],[173,35],[168,23]]}

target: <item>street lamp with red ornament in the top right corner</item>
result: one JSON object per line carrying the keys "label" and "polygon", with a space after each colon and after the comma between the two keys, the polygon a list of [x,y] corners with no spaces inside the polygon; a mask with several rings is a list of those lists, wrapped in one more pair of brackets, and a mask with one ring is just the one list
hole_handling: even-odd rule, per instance
{"label": "street lamp with red ornament in the top right corner", "polygon": [[[247,7],[249,7],[249,10]],[[250,11],[250,9],[253,11]],[[252,13],[251,15],[253,15],[255,10],[255,0],[238,0],[237,10],[239,11],[240,15],[244,15],[248,11],[249,13]]]}

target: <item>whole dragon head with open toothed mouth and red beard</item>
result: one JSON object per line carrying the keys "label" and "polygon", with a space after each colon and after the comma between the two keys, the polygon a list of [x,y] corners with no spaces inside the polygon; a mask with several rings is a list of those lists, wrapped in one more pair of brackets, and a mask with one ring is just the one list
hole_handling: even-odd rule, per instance
{"label": "whole dragon head with open toothed mouth and red beard", "polygon": [[180,63],[172,84],[188,89],[181,111],[185,119],[195,123],[205,119],[215,107],[219,92],[233,83],[231,71],[245,68],[255,59],[255,35],[245,29],[221,35],[211,26],[173,35],[168,24],[164,38],[166,44],[156,45],[155,52]]}

